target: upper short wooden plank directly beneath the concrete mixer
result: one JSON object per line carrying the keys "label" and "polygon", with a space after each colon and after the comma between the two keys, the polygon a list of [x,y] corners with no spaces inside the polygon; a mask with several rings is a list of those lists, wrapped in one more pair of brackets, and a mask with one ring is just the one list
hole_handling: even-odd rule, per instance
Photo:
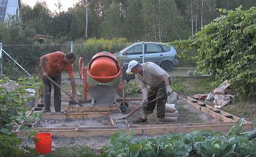
{"label": "upper short wooden plank directly beneath the concrete mixer", "polygon": [[119,106],[67,106],[67,112],[114,112],[119,111]]}

